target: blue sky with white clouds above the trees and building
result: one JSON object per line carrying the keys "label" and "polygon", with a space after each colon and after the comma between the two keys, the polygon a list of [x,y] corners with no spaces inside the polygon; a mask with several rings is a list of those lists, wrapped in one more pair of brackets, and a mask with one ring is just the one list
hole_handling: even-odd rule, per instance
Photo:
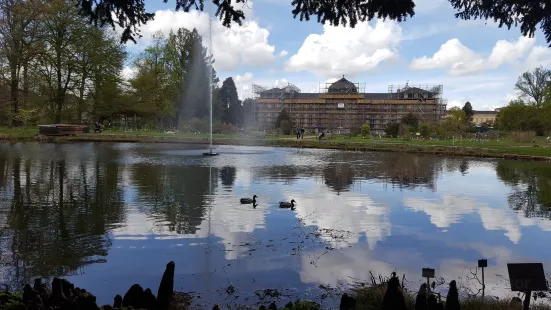
{"label": "blue sky with white clouds above the trees and building", "polygon": [[[491,110],[517,96],[514,84],[522,72],[551,66],[551,49],[539,29],[535,37],[523,37],[518,27],[456,19],[446,0],[415,3],[415,16],[405,22],[372,20],[347,28],[293,19],[291,0],[248,0],[240,4],[246,16],[241,26],[212,21],[214,67],[221,81],[234,79],[242,100],[253,96],[253,84],[292,83],[302,92],[319,92],[344,75],[365,92],[405,83],[443,85],[448,108],[469,101],[475,110]],[[204,12],[176,12],[173,0],[148,0],[146,8],[156,16],[141,27],[137,44],[127,44],[131,57],[157,31],[197,28],[209,42],[210,2]]]}

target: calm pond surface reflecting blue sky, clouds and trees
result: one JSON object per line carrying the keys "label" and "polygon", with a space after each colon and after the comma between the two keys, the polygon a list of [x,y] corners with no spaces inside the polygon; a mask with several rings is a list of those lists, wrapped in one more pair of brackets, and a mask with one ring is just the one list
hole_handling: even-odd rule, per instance
{"label": "calm pond surface reflecting blue sky, clouds and trees", "polygon": [[[422,267],[506,294],[508,262],[551,270],[551,165],[182,144],[0,144],[0,282],[67,276],[111,303],[166,263],[198,304],[332,294]],[[259,205],[239,198],[259,196]],[[295,199],[296,210],[279,209]],[[473,269],[474,270],[474,269]],[[227,290],[233,286],[235,292]],[[444,288],[445,289],[445,288]],[[257,294],[255,294],[255,292]]]}

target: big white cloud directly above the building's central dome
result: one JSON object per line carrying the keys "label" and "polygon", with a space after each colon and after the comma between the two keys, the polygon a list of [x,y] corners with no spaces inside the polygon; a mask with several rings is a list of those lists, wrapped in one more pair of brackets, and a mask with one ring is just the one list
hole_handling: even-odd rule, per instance
{"label": "big white cloud directly above the building's central dome", "polygon": [[324,25],[322,34],[310,34],[304,40],[285,69],[311,71],[326,78],[369,71],[398,55],[401,33],[392,21],[379,20],[375,27],[369,23],[355,28]]}

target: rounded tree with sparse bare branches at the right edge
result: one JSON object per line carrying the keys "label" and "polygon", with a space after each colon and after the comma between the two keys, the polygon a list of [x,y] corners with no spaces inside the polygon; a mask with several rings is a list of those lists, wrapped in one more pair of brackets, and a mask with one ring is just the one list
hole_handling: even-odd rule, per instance
{"label": "rounded tree with sparse bare branches at the right edge", "polygon": [[522,98],[531,101],[536,107],[541,107],[550,83],[551,70],[538,67],[519,76],[515,89],[520,92]]}

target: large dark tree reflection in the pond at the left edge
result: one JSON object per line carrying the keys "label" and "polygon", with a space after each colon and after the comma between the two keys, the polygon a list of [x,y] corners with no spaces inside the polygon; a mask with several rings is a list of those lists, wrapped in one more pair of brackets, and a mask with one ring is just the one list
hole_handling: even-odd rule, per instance
{"label": "large dark tree reflection in the pond at the left edge", "polygon": [[[108,232],[123,222],[116,160],[85,156],[75,163],[56,148],[56,158],[17,151],[0,156],[2,276],[13,287],[36,275],[68,275],[104,261],[111,246]],[[111,159],[118,156],[109,148],[102,151]]]}

